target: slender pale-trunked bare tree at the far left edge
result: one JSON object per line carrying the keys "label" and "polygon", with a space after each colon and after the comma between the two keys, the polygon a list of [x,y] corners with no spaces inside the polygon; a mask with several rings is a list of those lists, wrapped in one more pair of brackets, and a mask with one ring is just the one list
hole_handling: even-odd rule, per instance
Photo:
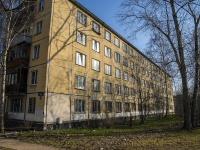
{"label": "slender pale-trunked bare tree at the far left edge", "polygon": [[30,24],[34,12],[32,1],[10,0],[0,1],[1,29],[0,41],[3,45],[1,51],[1,99],[0,99],[0,131],[4,132],[4,103],[5,103],[5,80],[6,80],[6,62],[8,50],[13,39],[20,35],[28,24]]}

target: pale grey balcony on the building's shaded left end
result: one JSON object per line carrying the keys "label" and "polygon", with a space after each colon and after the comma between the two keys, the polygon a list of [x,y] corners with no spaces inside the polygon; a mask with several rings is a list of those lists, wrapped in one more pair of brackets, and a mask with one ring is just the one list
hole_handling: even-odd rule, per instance
{"label": "pale grey balcony on the building's shaded left end", "polygon": [[23,42],[31,44],[32,37],[28,36],[28,35],[18,35],[13,39],[13,41],[11,43],[11,47],[14,46],[14,45],[17,45],[19,43],[23,43]]}

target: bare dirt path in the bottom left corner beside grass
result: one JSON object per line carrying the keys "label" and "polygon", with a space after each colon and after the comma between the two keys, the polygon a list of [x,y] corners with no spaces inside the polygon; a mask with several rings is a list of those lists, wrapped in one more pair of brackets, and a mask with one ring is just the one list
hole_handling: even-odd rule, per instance
{"label": "bare dirt path in the bottom left corner beside grass", "polygon": [[39,144],[20,142],[15,139],[4,138],[4,137],[0,137],[0,146],[5,148],[12,148],[15,150],[62,150]]}

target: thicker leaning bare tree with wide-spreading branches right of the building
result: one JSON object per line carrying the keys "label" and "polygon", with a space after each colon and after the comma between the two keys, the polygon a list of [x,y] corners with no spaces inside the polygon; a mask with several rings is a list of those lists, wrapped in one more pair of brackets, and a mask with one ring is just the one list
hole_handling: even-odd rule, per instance
{"label": "thicker leaning bare tree with wide-spreading branches right of the building", "polygon": [[166,41],[170,44],[180,71],[183,87],[183,127],[190,130],[192,123],[190,101],[188,98],[188,68],[186,66],[186,45],[189,34],[186,34],[186,31],[190,29],[190,31],[195,32],[195,28],[193,28],[194,24],[190,22],[192,18],[188,11],[194,11],[198,18],[199,1],[126,0],[122,2],[121,8],[122,11],[118,14],[119,20],[129,29],[134,26],[135,30],[133,30],[132,35],[139,31],[158,31],[163,34]]}

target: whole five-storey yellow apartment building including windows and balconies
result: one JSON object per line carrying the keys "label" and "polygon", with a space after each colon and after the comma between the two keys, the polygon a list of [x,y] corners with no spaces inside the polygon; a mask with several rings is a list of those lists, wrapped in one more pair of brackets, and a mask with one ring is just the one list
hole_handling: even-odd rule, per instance
{"label": "whole five-storey yellow apartment building including windows and balconies", "polygon": [[8,56],[10,118],[46,129],[156,113],[161,101],[174,111],[171,77],[77,1],[41,0],[35,10]]}

